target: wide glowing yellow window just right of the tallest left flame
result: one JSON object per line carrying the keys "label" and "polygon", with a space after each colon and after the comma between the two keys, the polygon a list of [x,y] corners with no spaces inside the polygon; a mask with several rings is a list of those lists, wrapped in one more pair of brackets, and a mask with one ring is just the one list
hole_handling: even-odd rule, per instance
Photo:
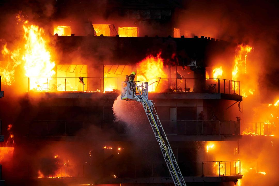
{"label": "wide glowing yellow window just right of the tallest left flame", "polygon": [[[52,88],[58,91],[65,91],[65,86],[66,91],[87,90],[87,65],[57,65],[57,77],[57,85],[52,85]],[[83,77],[84,86],[79,77]]]}

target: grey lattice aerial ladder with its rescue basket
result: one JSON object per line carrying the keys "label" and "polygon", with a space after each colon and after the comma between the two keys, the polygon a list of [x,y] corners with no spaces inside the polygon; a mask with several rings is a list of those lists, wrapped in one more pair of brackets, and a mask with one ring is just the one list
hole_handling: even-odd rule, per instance
{"label": "grey lattice aerial ladder with its rescue basket", "polygon": [[160,145],[163,157],[169,169],[175,186],[186,186],[182,173],[179,169],[174,153],[170,147],[168,138],[154,108],[154,102],[148,99],[148,83],[141,81],[123,81],[121,100],[134,100],[140,102],[146,113],[148,121]]}

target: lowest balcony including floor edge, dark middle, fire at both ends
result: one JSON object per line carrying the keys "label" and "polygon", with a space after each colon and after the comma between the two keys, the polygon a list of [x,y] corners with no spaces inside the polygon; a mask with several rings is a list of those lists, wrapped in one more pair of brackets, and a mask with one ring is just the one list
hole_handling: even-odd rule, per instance
{"label": "lowest balcony including floor edge, dark middle, fire at both ends", "polygon": [[[79,184],[99,183],[172,183],[165,162],[126,163],[116,162],[117,166],[100,167],[92,163],[55,163],[29,165],[30,178],[76,179]],[[237,182],[242,178],[240,161],[178,162],[185,182]],[[43,170],[40,168],[44,167]],[[97,171],[96,171],[97,169]],[[99,179],[99,178],[102,179]],[[61,180],[61,179],[51,179]]]}

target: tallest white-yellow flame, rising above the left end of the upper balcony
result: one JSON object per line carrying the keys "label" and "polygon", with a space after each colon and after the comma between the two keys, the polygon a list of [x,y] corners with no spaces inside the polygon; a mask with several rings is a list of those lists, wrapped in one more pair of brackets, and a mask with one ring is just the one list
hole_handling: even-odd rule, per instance
{"label": "tallest white-yellow flame, rising above the left end of the upper balcony", "polygon": [[44,39],[44,30],[39,26],[23,26],[25,44],[25,54],[22,59],[25,62],[25,75],[30,78],[30,90],[44,90],[47,88],[47,83],[55,71],[55,62],[51,60],[50,51],[47,48],[47,43]]}

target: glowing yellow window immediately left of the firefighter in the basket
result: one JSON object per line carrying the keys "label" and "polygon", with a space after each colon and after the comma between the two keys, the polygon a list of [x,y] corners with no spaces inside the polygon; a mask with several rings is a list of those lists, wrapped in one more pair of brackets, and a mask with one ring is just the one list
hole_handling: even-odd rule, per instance
{"label": "glowing yellow window immediately left of the firefighter in the basket", "polygon": [[121,90],[121,83],[132,72],[131,66],[104,65],[104,91]]}

